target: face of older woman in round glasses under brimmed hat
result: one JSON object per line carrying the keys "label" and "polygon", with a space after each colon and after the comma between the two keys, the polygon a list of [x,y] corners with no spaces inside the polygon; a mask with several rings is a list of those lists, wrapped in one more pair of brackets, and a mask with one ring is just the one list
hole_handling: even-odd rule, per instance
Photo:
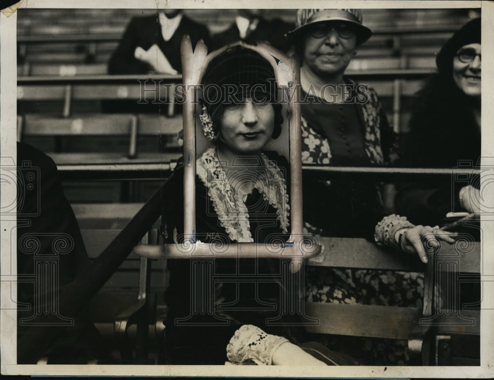
{"label": "face of older woman in round glasses under brimmed hat", "polygon": [[303,64],[319,77],[342,75],[355,53],[357,37],[351,24],[316,23],[303,36]]}

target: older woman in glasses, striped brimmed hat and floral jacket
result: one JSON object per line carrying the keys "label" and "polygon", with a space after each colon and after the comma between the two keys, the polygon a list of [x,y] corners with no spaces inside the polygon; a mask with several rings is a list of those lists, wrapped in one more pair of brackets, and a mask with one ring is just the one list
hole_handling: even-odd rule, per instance
{"label": "older woman in glasses, striped brimmed hat and floral jacket", "polygon": [[[288,38],[301,57],[304,164],[376,166],[397,160],[396,134],[377,94],[344,76],[357,46],[371,35],[358,9],[297,11]],[[334,236],[369,235],[379,220],[376,211],[382,213],[381,199],[388,201],[383,190],[389,188],[376,189],[374,181],[328,185],[304,177],[304,218]],[[327,211],[324,217],[321,209]]]}

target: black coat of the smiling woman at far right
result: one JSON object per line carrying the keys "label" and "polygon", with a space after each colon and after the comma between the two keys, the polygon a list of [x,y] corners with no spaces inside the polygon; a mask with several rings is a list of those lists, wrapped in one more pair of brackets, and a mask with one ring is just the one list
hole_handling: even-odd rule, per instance
{"label": "black coat of the smiling woman at far right", "polygon": [[452,175],[412,179],[402,183],[396,198],[397,211],[412,223],[443,224],[449,211],[459,205],[461,187],[475,179],[456,180],[453,171],[460,161],[478,165],[481,132],[467,98],[453,81],[435,75],[418,93],[404,144],[404,164],[415,168],[452,169]]}

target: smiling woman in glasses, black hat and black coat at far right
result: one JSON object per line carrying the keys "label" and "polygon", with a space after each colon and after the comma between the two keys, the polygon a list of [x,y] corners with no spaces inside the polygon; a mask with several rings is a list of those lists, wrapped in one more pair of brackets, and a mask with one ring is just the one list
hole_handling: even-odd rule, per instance
{"label": "smiling woman in glasses, black hat and black coat at far right", "polygon": [[[481,19],[469,21],[437,55],[438,72],[418,92],[410,120],[404,163],[418,168],[453,169],[458,162],[479,165],[481,147]],[[445,139],[445,137],[447,138]],[[452,178],[404,186],[397,208],[412,222],[444,223],[449,211],[479,212],[478,181],[474,186]],[[475,184],[477,183],[477,184]]]}

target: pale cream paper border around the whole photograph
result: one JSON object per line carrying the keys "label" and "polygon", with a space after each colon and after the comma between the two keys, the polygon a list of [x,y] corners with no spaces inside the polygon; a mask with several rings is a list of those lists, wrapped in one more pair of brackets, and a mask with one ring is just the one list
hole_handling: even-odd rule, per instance
{"label": "pale cream paper border around the whole photograph", "polygon": [[[299,1],[285,0],[273,1],[227,1],[221,2],[204,0],[202,2],[186,1],[151,1],[146,0],[138,4],[125,0],[111,2],[109,0],[89,0],[77,4],[79,8],[150,8],[165,7],[170,8],[251,8],[258,5],[259,8],[292,8],[296,9]],[[62,2],[58,0],[29,0],[23,1],[20,9],[28,6],[30,8],[74,8],[76,4]],[[484,72],[482,78],[482,166],[494,157],[494,3],[491,1],[307,1],[305,7],[354,7],[354,8],[475,8],[481,7],[482,11],[482,42],[484,46],[484,66],[489,69]],[[8,160],[16,157],[16,98],[12,94],[16,93],[16,19],[17,12],[6,17],[0,15],[0,152],[2,166]],[[0,168],[3,170],[3,168]],[[485,172],[481,178],[486,178]],[[1,183],[1,201],[3,207],[6,200],[15,192],[15,183]],[[493,206],[493,198],[486,199],[486,204]],[[401,377],[478,377],[490,378],[492,376],[492,366],[494,365],[494,299],[488,295],[494,294],[494,229],[493,222],[487,215],[482,215],[481,226],[484,233],[482,241],[484,299],[481,311],[481,366],[480,367],[254,367],[254,366],[100,366],[100,365],[16,365],[16,311],[12,311],[10,295],[16,295],[16,283],[8,276],[16,275],[15,252],[11,251],[10,238],[16,238],[16,219],[1,217],[1,374],[19,375],[112,375],[112,376],[228,376],[228,377],[364,377],[364,378],[401,378]],[[6,280],[4,280],[6,279]],[[486,296],[487,295],[487,296]]]}

